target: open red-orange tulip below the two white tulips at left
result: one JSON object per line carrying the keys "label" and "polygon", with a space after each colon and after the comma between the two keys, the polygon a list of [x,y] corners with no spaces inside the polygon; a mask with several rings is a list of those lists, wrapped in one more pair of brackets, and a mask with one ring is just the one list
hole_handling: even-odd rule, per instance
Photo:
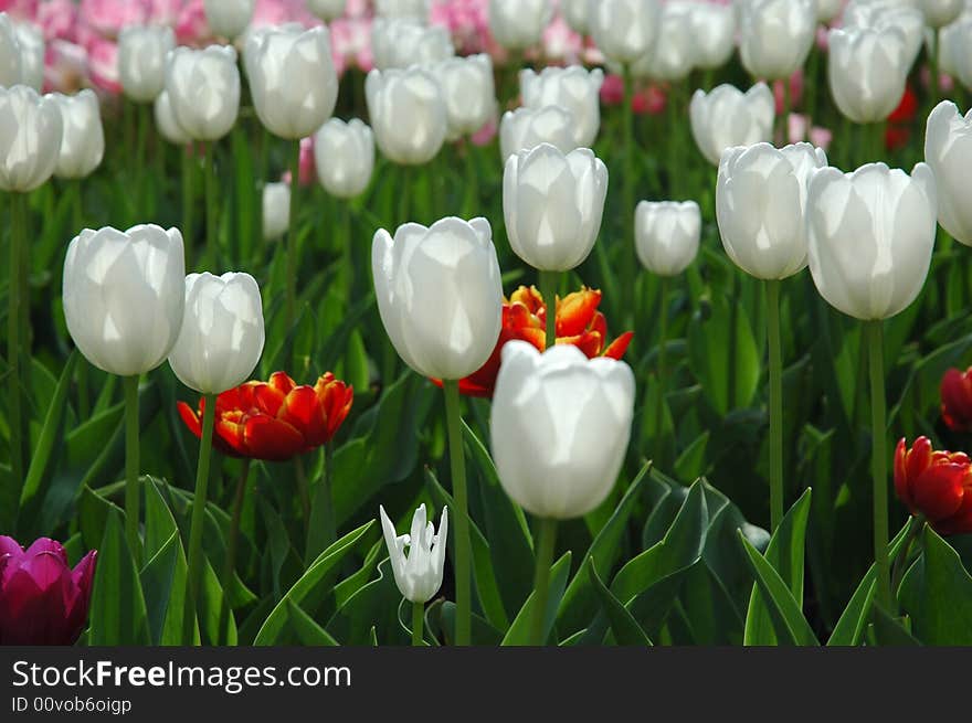
{"label": "open red-orange tulip below the two white tulips at left", "polygon": [[[284,372],[268,382],[246,382],[216,397],[213,446],[233,457],[283,461],[330,442],[348,416],[355,390],[328,372],[314,386],[297,383]],[[202,436],[198,411],[179,402],[179,414],[197,437]]]}

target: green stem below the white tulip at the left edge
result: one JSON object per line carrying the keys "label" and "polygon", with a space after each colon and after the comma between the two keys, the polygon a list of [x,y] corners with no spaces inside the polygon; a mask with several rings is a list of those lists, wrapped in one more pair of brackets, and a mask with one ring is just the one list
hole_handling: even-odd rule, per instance
{"label": "green stem below the white tulip at the left edge", "polygon": [[23,279],[20,275],[20,248],[24,243],[23,198],[20,193],[10,194],[10,286],[7,294],[7,363],[10,368],[8,405],[10,407],[10,469],[14,483],[23,481],[23,417],[20,387],[20,328],[21,306],[23,304]]}

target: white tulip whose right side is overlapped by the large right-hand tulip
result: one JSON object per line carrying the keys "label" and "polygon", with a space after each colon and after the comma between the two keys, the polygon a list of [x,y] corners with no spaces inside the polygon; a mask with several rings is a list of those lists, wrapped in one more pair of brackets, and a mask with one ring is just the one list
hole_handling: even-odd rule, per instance
{"label": "white tulip whose right side is overlapped by the large right-hand tulip", "polygon": [[810,143],[730,148],[716,182],[716,219],[729,258],[760,279],[806,266],[806,188],[827,157]]}

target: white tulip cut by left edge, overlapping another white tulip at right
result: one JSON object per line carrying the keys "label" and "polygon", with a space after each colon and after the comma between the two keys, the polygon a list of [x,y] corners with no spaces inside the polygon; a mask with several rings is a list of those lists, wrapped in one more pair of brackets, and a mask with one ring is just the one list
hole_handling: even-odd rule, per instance
{"label": "white tulip cut by left edge, overlapping another white tulip at right", "polygon": [[51,96],[0,87],[0,191],[33,191],[57,166],[64,121]]}

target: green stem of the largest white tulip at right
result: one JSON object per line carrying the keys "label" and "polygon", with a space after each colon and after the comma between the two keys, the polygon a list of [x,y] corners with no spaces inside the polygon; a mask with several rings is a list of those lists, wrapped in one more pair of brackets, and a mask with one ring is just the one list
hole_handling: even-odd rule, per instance
{"label": "green stem of the largest white tulip at right", "polygon": [[887,401],[885,398],[884,326],[880,319],[866,322],[870,362],[871,471],[874,481],[874,559],[877,565],[877,599],[891,609],[888,564],[888,460]]}

